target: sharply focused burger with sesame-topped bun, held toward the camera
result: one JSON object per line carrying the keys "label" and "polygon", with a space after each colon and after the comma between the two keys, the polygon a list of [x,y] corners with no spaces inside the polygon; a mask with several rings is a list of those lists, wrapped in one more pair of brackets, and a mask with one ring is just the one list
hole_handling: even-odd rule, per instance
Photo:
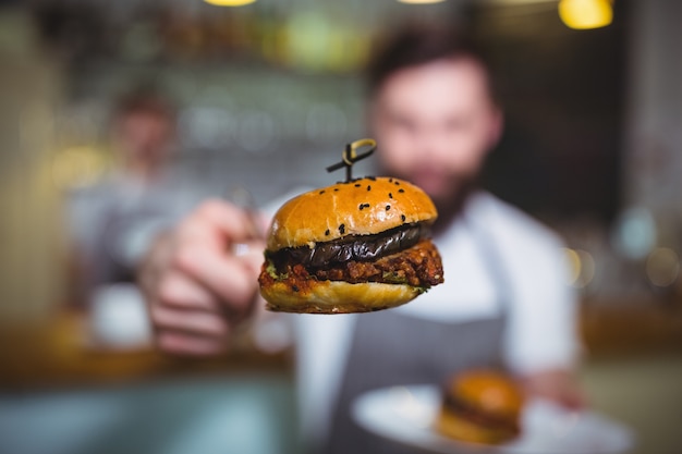
{"label": "sharply focused burger with sesame-topped bun, held toward the camera", "polygon": [[258,278],[273,311],[366,312],[443,282],[437,218],[418,187],[363,177],[302,194],[275,214]]}

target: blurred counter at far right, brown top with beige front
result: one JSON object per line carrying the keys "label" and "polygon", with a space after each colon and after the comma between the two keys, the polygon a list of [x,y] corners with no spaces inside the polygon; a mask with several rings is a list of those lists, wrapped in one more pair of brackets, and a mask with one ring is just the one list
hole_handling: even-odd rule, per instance
{"label": "blurred counter at far right, brown top with beige front", "polygon": [[585,299],[581,335],[588,405],[633,430],[630,454],[682,453],[682,302]]}

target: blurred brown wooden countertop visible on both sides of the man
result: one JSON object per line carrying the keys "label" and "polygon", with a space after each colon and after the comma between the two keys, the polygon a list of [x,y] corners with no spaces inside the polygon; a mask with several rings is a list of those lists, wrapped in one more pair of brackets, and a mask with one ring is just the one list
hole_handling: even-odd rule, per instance
{"label": "blurred brown wooden countertop visible on both sides of the man", "polygon": [[[682,354],[682,303],[585,299],[580,330],[585,356]],[[179,357],[151,347],[108,349],[88,339],[85,312],[61,311],[46,324],[0,329],[0,388],[41,388],[205,376],[240,371],[292,373],[292,352],[266,354],[248,341],[210,358]],[[246,339],[246,338],[245,338]]]}

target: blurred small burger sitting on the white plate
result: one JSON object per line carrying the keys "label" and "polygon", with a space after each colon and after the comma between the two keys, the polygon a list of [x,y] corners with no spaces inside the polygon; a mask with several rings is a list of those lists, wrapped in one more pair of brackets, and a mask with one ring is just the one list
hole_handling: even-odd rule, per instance
{"label": "blurred small burger sitting on the white plate", "polygon": [[508,376],[472,370],[448,383],[436,427],[449,438],[485,444],[510,441],[521,432],[523,393]]}

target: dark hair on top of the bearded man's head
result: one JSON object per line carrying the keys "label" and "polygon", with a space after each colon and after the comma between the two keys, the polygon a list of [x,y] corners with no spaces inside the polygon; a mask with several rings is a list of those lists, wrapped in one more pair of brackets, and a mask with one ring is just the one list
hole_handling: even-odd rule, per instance
{"label": "dark hair on top of the bearded man's head", "polygon": [[381,85],[398,71],[442,59],[472,59],[488,76],[490,96],[497,100],[497,89],[485,52],[462,28],[411,25],[391,35],[375,49],[367,65],[367,89],[373,97]]}

